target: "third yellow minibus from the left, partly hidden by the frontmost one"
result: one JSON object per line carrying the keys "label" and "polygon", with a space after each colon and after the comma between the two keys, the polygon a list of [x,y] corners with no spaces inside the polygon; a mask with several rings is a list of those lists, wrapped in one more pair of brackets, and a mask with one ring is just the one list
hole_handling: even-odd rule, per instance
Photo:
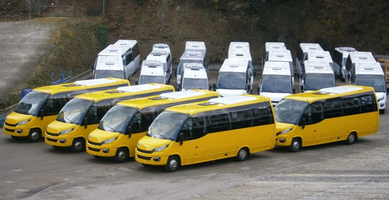
{"label": "third yellow minibus from the left, partly hidden by the frontmost one", "polygon": [[99,127],[87,139],[87,153],[97,157],[114,157],[125,162],[135,156],[136,143],[146,135],[151,122],[165,108],[219,97],[218,92],[187,90],[158,96],[120,101],[108,110]]}

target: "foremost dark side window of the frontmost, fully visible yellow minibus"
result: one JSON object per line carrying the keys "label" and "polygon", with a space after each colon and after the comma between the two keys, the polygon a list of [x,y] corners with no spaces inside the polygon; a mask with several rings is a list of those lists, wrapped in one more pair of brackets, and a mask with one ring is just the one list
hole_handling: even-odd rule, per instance
{"label": "foremost dark side window of the frontmost, fully visible yellow minibus", "polygon": [[180,133],[184,134],[184,140],[190,141],[204,136],[204,118],[203,117],[190,117],[183,127]]}

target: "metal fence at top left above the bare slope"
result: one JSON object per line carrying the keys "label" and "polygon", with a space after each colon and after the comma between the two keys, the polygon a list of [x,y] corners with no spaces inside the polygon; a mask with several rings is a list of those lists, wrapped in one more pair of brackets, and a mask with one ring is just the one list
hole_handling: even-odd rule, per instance
{"label": "metal fence at top left above the bare slope", "polygon": [[107,0],[29,0],[31,17],[104,15]]}

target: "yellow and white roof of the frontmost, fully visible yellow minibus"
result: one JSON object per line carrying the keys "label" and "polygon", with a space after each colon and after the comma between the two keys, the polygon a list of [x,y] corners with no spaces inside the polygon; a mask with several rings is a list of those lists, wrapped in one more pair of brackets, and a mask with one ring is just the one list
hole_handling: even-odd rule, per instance
{"label": "yellow and white roof of the frontmost, fully visible yellow minibus", "polygon": [[194,115],[196,113],[203,113],[211,110],[220,110],[223,108],[232,108],[236,106],[244,106],[253,103],[261,103],[264,101],[270,102],[270,98],[262,97],[259,95],[242,94],[239,96],[220,97],[215,99],[209,99],[208,101],[201,101],[197,103],[188,103],[184,105],[173,106],[167,108],[167,110]]}

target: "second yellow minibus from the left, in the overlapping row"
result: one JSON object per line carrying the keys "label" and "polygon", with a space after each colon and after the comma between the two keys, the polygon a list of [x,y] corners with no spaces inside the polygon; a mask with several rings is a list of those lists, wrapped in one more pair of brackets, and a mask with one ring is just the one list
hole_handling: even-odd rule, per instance
{"label": "second yellow minibus from the left, in the overlapping row", "polygon": [[85,150],[88,134],[97,128],[101,117],[115,103],[173,91],[171,85],[150,83],[77,95],[59,111],[57,119],[48,124],[45,143],[54,148],[71,147],[73,152],[81,152]]}

